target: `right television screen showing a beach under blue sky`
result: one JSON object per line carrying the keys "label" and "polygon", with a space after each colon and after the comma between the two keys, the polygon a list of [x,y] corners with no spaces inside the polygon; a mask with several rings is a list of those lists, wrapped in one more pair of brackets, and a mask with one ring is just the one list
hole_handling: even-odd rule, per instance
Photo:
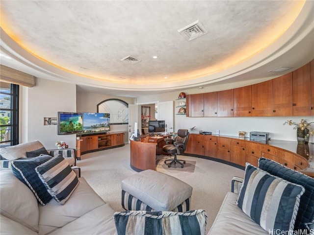
{"label": "right television screen showing a beach under blue sky", "polygon": [[83,113],[83,131],[84,133],[110,131],[110,114]]}

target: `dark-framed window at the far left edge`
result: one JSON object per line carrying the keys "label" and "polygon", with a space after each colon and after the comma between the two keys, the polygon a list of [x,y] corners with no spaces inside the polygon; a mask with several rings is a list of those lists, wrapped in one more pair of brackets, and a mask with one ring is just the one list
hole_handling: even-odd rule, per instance
{"label": "dark-framed window at the far left edge", "polygon": [[0,148],[19,143],[19,85],[1,83]]}

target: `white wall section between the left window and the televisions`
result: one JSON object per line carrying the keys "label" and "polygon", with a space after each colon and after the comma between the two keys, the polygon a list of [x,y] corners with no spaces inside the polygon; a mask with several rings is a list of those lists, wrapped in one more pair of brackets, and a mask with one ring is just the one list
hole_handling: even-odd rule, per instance
{"label": "white wall section between the left window and the televisions", "polygon": [[76,112],[76,85],[36,78],[36,86],[23,87],[22,142],[41,141],[54,149],[56,141],[76,148],[76,135],[57,135],[56,125],[44,125],[45,117],[57,117],[58,111]]}

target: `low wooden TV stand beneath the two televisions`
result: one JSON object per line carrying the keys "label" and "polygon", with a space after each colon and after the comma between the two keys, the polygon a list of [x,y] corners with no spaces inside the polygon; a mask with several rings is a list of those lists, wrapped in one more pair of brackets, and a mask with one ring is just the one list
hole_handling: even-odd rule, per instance
{"label": "low wooden TV stand beneath the two televisions", "polygon": [[124,132],[77,135],[77,159],[80,160],[80,156],[85,153],[124,146],[124,136]]}

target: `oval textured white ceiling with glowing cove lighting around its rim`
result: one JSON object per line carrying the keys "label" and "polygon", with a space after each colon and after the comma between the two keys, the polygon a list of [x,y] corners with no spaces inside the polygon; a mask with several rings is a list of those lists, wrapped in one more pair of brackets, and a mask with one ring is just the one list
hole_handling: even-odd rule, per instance
{"label": "oval textured white ceiling with glowing cove lighting around its rim", "polygon": [[[313,1],[1,0],[0,6],[1,53],[61,80],[114,90],[271,77],[269,70],[302,63],[276,58],[314,43]],[[208,33],[187,41],[177,30],[196,20]],[[128,55],[141,62],[121,61]],[[309,60],[311,51],[298,57]],[[266,60],[268,67],[248,76]]]}

